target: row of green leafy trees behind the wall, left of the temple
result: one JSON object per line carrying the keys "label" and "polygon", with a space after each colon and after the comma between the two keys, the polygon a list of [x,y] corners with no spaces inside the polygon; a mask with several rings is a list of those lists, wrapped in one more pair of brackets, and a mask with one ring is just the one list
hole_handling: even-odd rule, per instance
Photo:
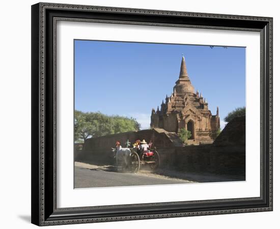
{"label": "row of green leafy trees behind the wall, left of the temple", "polygon": [[107,116],[101,112],[75,110],[75,141],[89,137],[140,130],[141,125],[134,118]]}

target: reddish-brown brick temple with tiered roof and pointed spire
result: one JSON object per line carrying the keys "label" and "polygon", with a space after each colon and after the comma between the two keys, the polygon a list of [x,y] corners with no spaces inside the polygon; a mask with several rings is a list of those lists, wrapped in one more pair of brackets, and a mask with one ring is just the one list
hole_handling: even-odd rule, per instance
{"label": "reddish-brown brick temple with tiered roof and pointed spire", "polygon": [[220,128],[219,109],[212,115],[208,103],[189,79],[186,62],[182,56],[179,79],[170,97],[166,95],[160,109],[152,109],[151,128],[161,128],[169,132],[176,132],[185,128],[191,132],[189,145],[211,144]]}

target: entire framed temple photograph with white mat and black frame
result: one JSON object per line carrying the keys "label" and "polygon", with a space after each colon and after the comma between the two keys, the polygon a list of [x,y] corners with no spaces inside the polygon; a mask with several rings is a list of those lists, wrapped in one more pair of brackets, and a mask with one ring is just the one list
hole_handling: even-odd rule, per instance
{"label": "entire framed temple photograph with white mat and black frame", "polygon": [[32,6],[32,223],[272,211],[272,18]]}

